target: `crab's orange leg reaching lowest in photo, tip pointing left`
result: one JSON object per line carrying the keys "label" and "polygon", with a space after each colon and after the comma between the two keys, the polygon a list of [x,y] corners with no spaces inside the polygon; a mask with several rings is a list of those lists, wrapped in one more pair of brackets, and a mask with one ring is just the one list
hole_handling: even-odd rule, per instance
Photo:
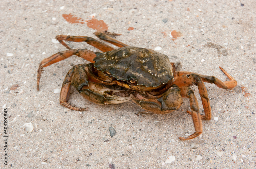
{"label": "crab's orange leg reaching lowest in photo, tip pointing left", "polygon": [[189,140],[195,137],[198,137],[202,131],[203,131],[203,127],[202,127],[202,119],[200,113],[199,113],[199,107],[198,107],[198,102],[196,99],[196,96],[193,92],[192,89],[190,89],[189,87],[180,87],[181,90],[181,94],[182,97],[187,97],[189,98],[189,102],[190,102],[190,108],[191,108],[191,116],[193,119],[193,123],[194,123],[194,127],[195,127],[195,131],[193,134],[191,134],[188,137],[179,137],[179,139],[181,140]]}

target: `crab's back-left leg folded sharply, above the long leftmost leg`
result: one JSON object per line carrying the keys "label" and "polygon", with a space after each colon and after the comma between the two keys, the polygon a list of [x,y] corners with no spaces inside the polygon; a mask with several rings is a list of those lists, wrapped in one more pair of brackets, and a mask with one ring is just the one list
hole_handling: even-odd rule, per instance
{"label": "crab's back-left leg folded sharply, above the long leftmost leg", "polygon": [[88,36],[57,35],[56,39],[62,45],[64,45],[67,49],[71,49],[71,48],[65,42],[63,42],[63,40],[72,41],[72,42],[86,42],[87,44],[94,46],[95,48],[101,50],[102,52],[114,50],[114,48],[112,48],[111,46],[106,45],[106,44],[104,44],[92,37],[88,37]]}

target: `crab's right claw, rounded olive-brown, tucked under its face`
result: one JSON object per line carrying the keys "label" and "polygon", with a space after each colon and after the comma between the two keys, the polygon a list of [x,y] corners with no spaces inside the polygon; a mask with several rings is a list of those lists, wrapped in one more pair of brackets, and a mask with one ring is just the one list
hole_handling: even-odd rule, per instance
{"label": "crab's right claw, rounded olive-brown, tucked under its face", "polygon": [[156,114],[167,114],[177,110],[182,104],[180,88],[172,85],[159,98],[146,98],[140,93],[131,94],[132,101],[144,110],[152,111]]}

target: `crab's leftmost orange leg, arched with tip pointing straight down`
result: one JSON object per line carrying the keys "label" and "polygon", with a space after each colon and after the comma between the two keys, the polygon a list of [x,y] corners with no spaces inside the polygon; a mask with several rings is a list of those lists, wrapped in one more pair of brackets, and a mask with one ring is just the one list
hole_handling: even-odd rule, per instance
{"label": "crab's leftmost orange leg, arched with tip pointing straight down", "polygon": [[38,91],[39,91],[39,82],[40,82],[40,78],[41,78],[41,73],[43,71],[43,67],[46,67],[46,66],[54,64],[56,62],[67,59],[72,55],[77,55],[78,57],[86,59],[92,63],[94,63],[93,58],[96,57],[96,55],[93,51],[90,51],[87,49],[78,49],[78,50],[71,49],[71,50],[66,50],[66,51],[55,53],[54,55],[51,55],[49,58],[45,58],[39,64],[39,68],[37,71],[37,90]]}

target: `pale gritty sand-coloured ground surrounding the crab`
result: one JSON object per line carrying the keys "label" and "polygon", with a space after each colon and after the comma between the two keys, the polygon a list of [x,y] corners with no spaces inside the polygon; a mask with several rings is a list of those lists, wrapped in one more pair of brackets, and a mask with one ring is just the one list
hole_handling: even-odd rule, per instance
{"label": "pale gritty sand-coloured ground surrounding the crab", "polygon": [[[0,154],[6,151],[3,136],[9,136],[8,166],[1,155],[0,168],[256,168],[254,0],[7,0],[0,7]],[[78,23],[66,21],[63,14],[77,17]],[[75,56],[45,67],[36,90],[41,60],[67,50],[55,36],[96,38],[97,27],[87,25],[92,16],[109,32],[122,34],[116,38],[125,44],[156,49],[170,61],[181,62],[180,70],[226,81],[221,66],[237,80],[232,90],[205,84],[212,119],[203,121],[201,137],[178,139],[194,132],[186,98],[172,114],[136,115],[143,109],[132,101],[96,105],[72,88],[69,101],[89,109],[78,112],[61,106],[54,91],[61,89],[73,65],[88,63]],[[172,35],[174,30],[177,34]],[[84,42],[68,44],[99,51]],[[198,89],[192,88],[202,111]],[[31,123],[32,132],[24,130],[25,123]],[[110,126],[116,131],[113,137]],[[169,156],[175,157],[171,163],[166,162]]]}

